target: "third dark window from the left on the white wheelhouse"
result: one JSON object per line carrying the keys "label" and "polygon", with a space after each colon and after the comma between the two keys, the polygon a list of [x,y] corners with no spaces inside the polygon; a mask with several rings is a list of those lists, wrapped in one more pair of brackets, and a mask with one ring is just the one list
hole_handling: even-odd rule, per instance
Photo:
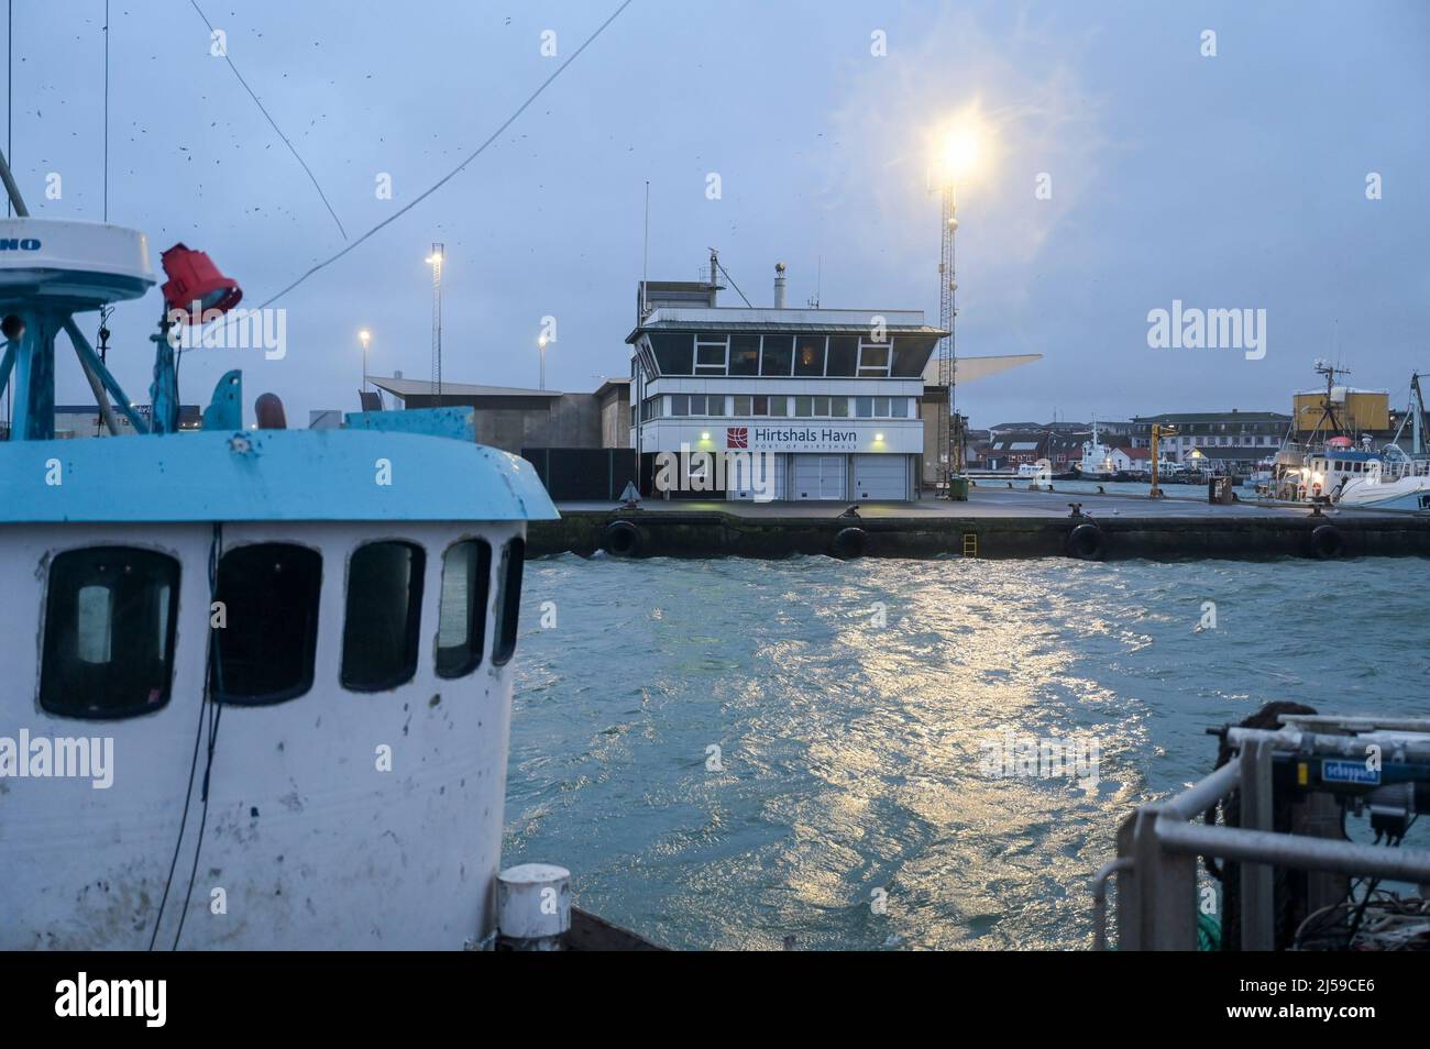
{"label": "third dark window from the left on the white wheelhouse", "polygon": [[339,676],[345,689],[395,689],[418,672],[425,566],[426,555],[413,543],[366,543],[353,553]]}

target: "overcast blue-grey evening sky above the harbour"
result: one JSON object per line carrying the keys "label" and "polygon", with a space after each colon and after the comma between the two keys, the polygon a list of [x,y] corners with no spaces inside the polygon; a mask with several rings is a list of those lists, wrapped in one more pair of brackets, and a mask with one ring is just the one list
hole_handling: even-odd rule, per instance
{"label": "overcast blue-grey evening sky above the harbour", "polygon": [[[446,174],[619,4],[200,0],[356,239]],[[103,0],[16,0],[13,161],[36,214],[103,216]],[[343,236],[187,0],[112,0],[109,217],[207,250],[259,304]],[[543,30],[556,57],[542,54]],[[1205,57],[1204,30],[1216,33]],[[882,33],[887,54],[875,33]],[[290,422],[356,407],[372,370],[428,377],[445,242],[449,382],[626,374],[651,183],[652,279],[715,246],[755,304],[937,322],[930,133],[977,104],[992,156],[960,186],[958,349],[1042,353],[968,384],[975,426],[1288,410],[1340,357],[1401,400],[1430,369],[1430,4],[635,0],[490,149],[276,304],[287,356],[186,354],[186,402],[242,367]],[[46,177],[61,176],[59,200]],[[390,200],[378,177],[392,177]],[[721,196],[708,197],[709,174]],[[1051,199],[1038,199],[1040,174]],[[1381,199],[1367,199],[1367,176]],[[821,274],[822,270],[822,276]],[[1154,350],[1148,310],[1264,309],[1260,360]],[[110,360],[147,402],[157,289]],[[722,304],[739,304],[734,290]],[[82,317],[93,330],[93,317]],[[87,400],[66,354],[59,396]]]}

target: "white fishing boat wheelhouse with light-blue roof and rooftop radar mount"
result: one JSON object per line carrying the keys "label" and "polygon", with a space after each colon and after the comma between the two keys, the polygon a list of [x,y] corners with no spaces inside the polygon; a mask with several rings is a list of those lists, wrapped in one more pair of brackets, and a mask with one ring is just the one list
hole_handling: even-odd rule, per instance
{"label": "white fishing boat wheelhouse with light-blue roof and rooftop radar mount", "polygon": [[245,429],[237,372],[177,433],[163,337],[137,433],[54,440],[60,330],[130,414],[70,316],[147,244],[0,226],[0,949],[488,942],[532,467],[466,409]]}

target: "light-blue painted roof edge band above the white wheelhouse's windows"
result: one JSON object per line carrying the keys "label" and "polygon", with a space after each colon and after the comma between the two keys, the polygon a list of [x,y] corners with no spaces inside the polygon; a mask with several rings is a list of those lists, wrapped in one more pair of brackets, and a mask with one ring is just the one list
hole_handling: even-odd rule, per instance
{"label": "light-blue painted roof edge band above the white wheelhouse's windows", "polygon": [[[51,459],[60,484],[46,483]],[[525,459],[415,433],[233,430],[0,443],[0,524],[556,517]]]}

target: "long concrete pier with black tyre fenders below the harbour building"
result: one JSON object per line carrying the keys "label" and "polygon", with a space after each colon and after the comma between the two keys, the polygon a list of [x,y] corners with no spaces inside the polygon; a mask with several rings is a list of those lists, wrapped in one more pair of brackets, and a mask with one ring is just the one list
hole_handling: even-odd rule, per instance
{"label": "long concrete pier with black tyre fenders below the harbour building", "polygon": [[[1081,503],[1074,516],[1068,503]],[[1430,519],[1205,499],[975,487],[968,502],[561,504],[533,522],[528,555],[618,557],[1364,557],[1430,556]]]}

